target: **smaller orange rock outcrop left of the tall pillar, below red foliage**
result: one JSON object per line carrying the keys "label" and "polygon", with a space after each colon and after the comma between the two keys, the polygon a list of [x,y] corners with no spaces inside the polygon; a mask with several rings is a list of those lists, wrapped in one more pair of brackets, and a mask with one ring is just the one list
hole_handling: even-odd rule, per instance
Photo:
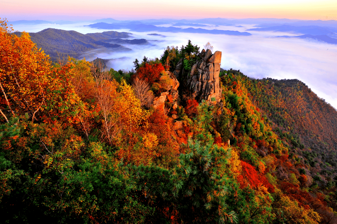
{"label": "smaller orange rock outcrop left of the tall pillar, below red foliage", "polygon": [[161,92],[160,96],[154,98],[153,107],[165,113],[165,102],[167,102],[167,105],[172,105],[173,108],[177,107],[179,82],[172,72],[169,71],[166,71],[160,79],[166,84],[164,87],[165,91]]}

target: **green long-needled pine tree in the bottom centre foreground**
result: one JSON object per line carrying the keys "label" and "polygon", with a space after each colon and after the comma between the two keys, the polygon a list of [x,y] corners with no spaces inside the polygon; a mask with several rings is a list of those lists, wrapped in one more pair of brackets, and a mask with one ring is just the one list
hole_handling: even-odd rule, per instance
{"label": "green long-needled pine tree in the bottom centre foreground", "polygon": [[171,204],[183,223],[237,223],[237,215],[225,203],[228,176],[221,170],[230,158],[230,149],[213,145],[211,135],[202,144],[189,139],[186,154],[171,169],[157,166],[133,166],[132,178],[147,197]]}

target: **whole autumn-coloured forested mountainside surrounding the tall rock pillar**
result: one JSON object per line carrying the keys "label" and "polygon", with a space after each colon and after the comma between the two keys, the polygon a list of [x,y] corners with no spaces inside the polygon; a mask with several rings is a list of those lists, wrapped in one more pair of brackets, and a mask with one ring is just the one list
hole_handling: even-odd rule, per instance
{"label": "whole autumn-coloured forested mountainside surrounding the tall rock pillar", "polygon": [[116,72],[52,63],[12,31],[1,21],[0,223],[337,222],[336,110],[302,82],[225,70],[219,102],[197,101],[186,79],[213,54],[190,40]]}

